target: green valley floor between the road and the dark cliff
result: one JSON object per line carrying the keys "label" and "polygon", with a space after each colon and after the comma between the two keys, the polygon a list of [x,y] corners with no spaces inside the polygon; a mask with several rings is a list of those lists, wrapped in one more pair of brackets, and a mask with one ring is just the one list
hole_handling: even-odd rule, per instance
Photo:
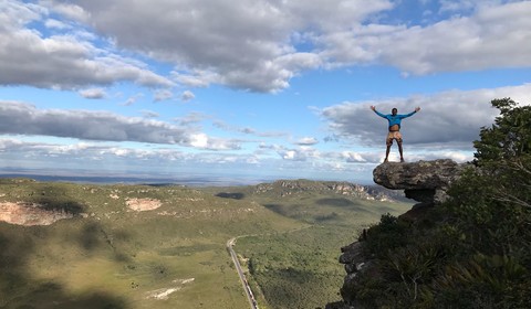
{"label": "green valley floor between the road and the dark cliff", "polygon": [[263,194],[241,189],[230,192],[308,224],[302,230],[238,239],[236,251],[248,260],[249,281],[259,291],[260,308],[320,308],[339,300],[345,276],[337,263],[339,248],[352,243],[382,214],[396,215],[410,209],[410,204],[314,191],[284,196],[275,190]]}

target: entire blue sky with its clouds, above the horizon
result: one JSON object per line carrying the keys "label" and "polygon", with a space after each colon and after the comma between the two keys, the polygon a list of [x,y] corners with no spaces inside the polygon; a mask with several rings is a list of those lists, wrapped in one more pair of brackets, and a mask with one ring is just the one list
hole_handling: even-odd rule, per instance
{"label": "entire blue sky with its clouds, above the horizon", "polygon": [[[531,103],[531,1],[0,0],[0,169],[372,182]],[[392,160],[397,160],[396,145]]]}

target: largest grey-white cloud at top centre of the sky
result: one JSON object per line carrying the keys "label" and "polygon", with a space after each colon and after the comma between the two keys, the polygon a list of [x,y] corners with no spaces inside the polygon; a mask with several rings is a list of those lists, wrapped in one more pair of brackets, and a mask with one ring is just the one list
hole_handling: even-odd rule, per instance
{"label": "largest grey-white cloud at top centre of the sky", "polygon": [[310,38],[296,33],[315,26],[335,31],[393,7],[387,0],[260,0],[246,6],[229,0],[46,1],[46,8],[59,13],[65,6],[72,6],[69,11],[81,9],[87,23],[121,47],[176,64],[180,83],[218,83],[257,92],[284,89],[293,76],[322,65],[317,52],[296,50],[294,44],[301,42],[292,42],[293,38]]}

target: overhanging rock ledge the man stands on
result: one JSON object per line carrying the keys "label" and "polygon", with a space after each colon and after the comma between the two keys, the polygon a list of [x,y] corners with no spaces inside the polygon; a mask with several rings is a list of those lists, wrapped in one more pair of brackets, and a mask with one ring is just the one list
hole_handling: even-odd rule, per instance
{"label": "overhanging rock ledge the man stands on", "polygon": [[420,205],[437,205],[448,199],[448,188],[456,181],[466,164],[449,159],[412,163],[386,162],[373,171],[374,182],[387,189],[404,190],[406,198]]}

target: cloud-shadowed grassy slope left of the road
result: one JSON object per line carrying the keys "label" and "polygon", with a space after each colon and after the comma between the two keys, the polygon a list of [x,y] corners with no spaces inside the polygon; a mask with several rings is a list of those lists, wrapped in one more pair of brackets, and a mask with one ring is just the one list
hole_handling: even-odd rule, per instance
{"label": "cloud-shadowed grassy slope left of the road", "polygon": [[[246,308],[227,239],[301,225],[258,204],[179,187],[4,181],[0,195],[88,214],[50,226],[0,223],[0,308]],[[163,206],[133,212],[126,198]],[[146,299],[163,288],[180,290]]]}

